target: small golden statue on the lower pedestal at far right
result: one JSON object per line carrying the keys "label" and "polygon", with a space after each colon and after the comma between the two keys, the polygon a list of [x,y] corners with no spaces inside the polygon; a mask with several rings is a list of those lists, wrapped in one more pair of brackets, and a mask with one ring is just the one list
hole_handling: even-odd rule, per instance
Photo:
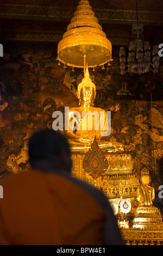
{"label": "small golden statue on the lower pedestal at far right", "polygon": [[148,186],[149,181],[149,171],[144,168],[141,172],[141,185],[137,191],[137,200],[142,207],[152,206],[152,201],[155,198],[154,188]]}

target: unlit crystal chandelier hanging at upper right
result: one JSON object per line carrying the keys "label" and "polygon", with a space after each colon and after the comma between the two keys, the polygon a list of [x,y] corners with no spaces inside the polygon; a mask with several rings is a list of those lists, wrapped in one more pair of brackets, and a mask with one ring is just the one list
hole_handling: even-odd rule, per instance
{"label": "unlit crystal chandelier hanging at upper right", "polygon": [[124,47],[120,47],[120,69],[121,74],[126,72],[142,74],[149,72],[158,72],[159,66],[159,47],[155,45],[152,50],[151,62],[151,46],[148,41],[144,41],[143,25],[138,22],[137,0],[136,0],[136,16],[137,22],[132,25],[132,41],[129,44],[128,64],[126,64],[126,52]]}

